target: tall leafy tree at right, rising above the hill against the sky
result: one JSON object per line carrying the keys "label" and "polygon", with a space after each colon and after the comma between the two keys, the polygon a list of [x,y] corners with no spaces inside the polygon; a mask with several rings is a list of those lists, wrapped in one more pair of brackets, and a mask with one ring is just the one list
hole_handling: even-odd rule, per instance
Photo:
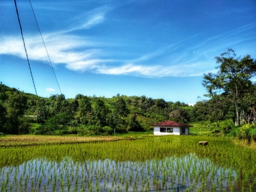
{"label": "tall leafy tree at right, rising above the hill against the sky", "polygon": [[215,57],[218,72],[204,74],[203,86],[212,97],[217,93],[224,93],[226,99],[236,108],[237,124],[241,124],[241,112],[246,93],[250,92],[252,82],[250,78],[256,76],[256,61],[250,55],[236,57],[233,49],[227,49],[219,57]]}

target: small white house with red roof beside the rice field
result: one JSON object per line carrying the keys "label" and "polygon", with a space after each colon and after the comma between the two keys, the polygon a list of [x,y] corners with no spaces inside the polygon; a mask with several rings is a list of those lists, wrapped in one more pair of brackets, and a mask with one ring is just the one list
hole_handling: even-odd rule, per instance
{"label": "small white house with red roof beside the rice field", "polygon": [[154,123],[154,135],[189,135],[189,124],[176,123],[172,120],[166,122]]}

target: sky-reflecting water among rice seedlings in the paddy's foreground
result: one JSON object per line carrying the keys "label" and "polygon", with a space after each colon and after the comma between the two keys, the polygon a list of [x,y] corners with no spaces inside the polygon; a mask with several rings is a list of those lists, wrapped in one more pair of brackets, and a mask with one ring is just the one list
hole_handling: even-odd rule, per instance
{"label": "sky-reflecting water among rice seedlings in the paddy's foreground", "polygon": [[1,191],[226,191],[237,180],[235,170],[195,154],[143,162],[36,158],[2,167],[0,176]]}

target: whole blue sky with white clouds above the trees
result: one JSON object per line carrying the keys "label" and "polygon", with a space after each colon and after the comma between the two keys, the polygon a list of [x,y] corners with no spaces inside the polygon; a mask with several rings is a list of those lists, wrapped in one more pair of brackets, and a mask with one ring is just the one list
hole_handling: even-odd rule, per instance
{"label": "whole blue sky with white clouds above the trees", "polygon": [[[16,0],[38,95],[196,103],[214,57],[256,58],[256,1]],[[0,2],[0,81],[35,94],[14,1]]]}

